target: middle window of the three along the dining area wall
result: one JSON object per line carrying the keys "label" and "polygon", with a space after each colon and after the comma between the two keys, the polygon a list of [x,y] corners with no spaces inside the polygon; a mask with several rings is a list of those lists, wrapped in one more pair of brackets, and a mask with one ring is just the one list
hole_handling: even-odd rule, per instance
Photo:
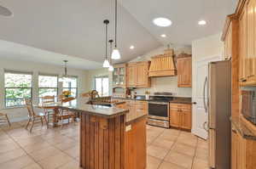
{"label": "middle window of the three along the dining area wall", "polygon": [[[39,99],[44,96],[58,96],[58,76],[39,75],[38,76]],[[41,100],[39,100],[41,102]]]}

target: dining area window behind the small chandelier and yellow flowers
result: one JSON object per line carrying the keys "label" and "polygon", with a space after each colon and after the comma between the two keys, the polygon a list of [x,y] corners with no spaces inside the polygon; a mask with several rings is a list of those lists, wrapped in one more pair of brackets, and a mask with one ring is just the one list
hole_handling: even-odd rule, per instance
{"label": "dining area window behind the small chandelier and yellow flowers", "polygon": [[68,80],[62,83],[62,92],[63,91],[70,91],[71,96],[74,98],[77,98],[78,97],[78,77],[75,77],[75,76],[68,77]]}

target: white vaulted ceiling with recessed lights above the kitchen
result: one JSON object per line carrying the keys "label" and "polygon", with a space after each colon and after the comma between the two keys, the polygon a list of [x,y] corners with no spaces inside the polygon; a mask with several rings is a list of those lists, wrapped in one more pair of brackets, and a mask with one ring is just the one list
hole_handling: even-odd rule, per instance
{"label": "white vaulted ceiling with recessed lights above the kitchen", "polygon": [[[236,1],[119,0],[118,44],[122,54],[119,62],[133,59],[166,43],[188,45],[196,38],[221,31],[225,15],[234,11]],[[84,60],[83,69],[91,69],[91,65],[100,67],[105,51],[102,22],[110,20],[109,38],[113,38],[114,0],[3,0],[0,4],[14,13],[12,17],[0,16],[0,39],[3,42],[43,49],[34,61],[47,60],[49,56],[44,57],[43,52],[46,50]],[[173,24],[165,28],[157,27],[152,23],[156,17],[169,18]],[[207,20],[208,24],[199,26],[198,20]],[[162,33],[167,37],[160,37]],[[135,46],[133,50],[131,45]],[[7,57],[7,53],[11,55],[12,51],[0,48],[0,57],[3,54]],[[19,55],[17,53],[16,49],[15,54]],[[31,55],[23,57],[35,58]],[[92,61],[90,66],[86,65],[88,60]],[[61,57],[55,59],[56,63],[59,61]]]}

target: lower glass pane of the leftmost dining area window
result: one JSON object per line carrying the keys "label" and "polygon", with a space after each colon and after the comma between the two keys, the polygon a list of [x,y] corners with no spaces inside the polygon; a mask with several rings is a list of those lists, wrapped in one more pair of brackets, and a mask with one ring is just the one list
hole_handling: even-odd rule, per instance
{"label": "lower glass pane of the leftmost dining area window", "polygon": [[31,98],[31,88],[6,88],[5,105],[14,107],[24,105],[24,98]]}

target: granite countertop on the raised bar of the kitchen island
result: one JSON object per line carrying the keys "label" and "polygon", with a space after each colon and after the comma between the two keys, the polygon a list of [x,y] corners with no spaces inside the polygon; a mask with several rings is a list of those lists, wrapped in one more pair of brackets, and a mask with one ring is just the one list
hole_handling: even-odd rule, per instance
{"label": "granite countertop on the raised bar of the kitchen island", "polygon": [[61,103],[55,103],[55,104],[44,104],[40,105],[38,104],[38,107],[55,107],[60,109],[67,109],[71,111],[76,111],[79,113],[85,113],[89,115],[97,115],[102,116],[103,118],[113,118],[115,116],[119,115],[125,115],[129,110],[125,109],[119,109],[115,106],[104,106],[104,105],[96,105],[96,104],[61,104]]}

